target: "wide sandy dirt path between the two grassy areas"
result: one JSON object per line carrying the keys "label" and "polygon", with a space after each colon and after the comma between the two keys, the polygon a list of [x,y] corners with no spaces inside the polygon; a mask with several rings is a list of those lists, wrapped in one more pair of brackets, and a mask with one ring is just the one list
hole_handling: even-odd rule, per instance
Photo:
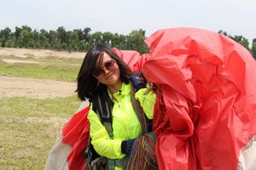
{"label": "wide sandy dirt path between the two grassy areas", "polygon": [[74,95],[75,82],[57,82],[21,77],[0,77],[0,98],[53,99]]}

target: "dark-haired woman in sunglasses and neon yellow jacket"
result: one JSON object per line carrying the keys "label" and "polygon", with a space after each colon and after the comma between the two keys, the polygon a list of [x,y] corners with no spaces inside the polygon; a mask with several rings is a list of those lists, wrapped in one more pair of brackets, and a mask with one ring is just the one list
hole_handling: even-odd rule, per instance
{"label": "dark-haired woman in sunglasses and neon yellow jacket", "polygon": [[121,169],[134,140],[145,128],[132,105],[133,95],[148,119],[153,118],[155,94],[146,86],[133,94],[131,77],[130,68],[103,44],[88,51],[79,71],[79,99],[90,100],[91,144],[97,154],[108,159],[109,169]]}

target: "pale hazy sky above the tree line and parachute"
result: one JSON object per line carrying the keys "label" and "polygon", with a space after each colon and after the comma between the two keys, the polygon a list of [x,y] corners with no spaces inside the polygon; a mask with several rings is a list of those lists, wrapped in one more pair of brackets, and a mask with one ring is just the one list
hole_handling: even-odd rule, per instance
{"label": "pale hazy sky above the tree line and parachute", "polygon": [[0,29],[66,30],[90,27],[128,35],[196,27],[256,38],[256,0],[0,0]]}

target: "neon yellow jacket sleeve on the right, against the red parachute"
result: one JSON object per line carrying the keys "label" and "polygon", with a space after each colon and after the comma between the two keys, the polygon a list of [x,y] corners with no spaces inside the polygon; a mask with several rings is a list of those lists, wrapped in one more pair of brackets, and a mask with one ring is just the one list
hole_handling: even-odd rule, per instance
{"label": "neon yellow jacket sleeve on the right, against the red parachute", "polygon": [[135,94],[135,98],[139,100],[141,106],[143,107],[143,111],[145,111],[148,119],[153,119],[154,116],[154,104],[156,100],[156,95],[152,90],[145,94],[148,88],[141,88]]}

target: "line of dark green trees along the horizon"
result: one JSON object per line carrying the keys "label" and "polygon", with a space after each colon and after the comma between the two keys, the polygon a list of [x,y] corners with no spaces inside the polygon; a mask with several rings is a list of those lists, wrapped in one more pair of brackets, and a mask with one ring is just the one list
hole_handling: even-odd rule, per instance
{"label": "line of dark green trees along the horizon", "polygon": [[[88,51],[97,43],[107,43],[119,49],[137,50],[141,54],[148,53],[148,47],[144,44],[146,31],[142,29],[131,31],[128,35],[112,33],[109,31],[96,31],[91,33],[90,27],[67,31],[63,26],[56,30],[32,30],[29,26],[16,26],[14,31],[9,27],[0,30],[0,47],[3,48],[37,48],[66,51]],[[227,37],[239,42],[256,56],[256,38],[253,39],[252,48],[246,37],[232,36],[226,31],[218,31]]]}

